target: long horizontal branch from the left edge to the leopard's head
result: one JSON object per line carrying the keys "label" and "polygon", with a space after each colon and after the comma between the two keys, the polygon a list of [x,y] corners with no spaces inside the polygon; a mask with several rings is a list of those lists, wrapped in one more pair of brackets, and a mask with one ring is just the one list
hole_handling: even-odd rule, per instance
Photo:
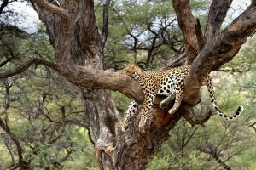
{"label": "long horizontal branch from the left edge to the leopard's head", "polygon": [[143,101],[143,90],[138,82],[121,72],[103,71],[75,64],[70,68],[69,65],[56,65],[44,59],[30,59],[12,71],[0,73],[0,79],[20,74],[32,65],[48,66],[80,88],[110,89],[119,91],[131,99]]}

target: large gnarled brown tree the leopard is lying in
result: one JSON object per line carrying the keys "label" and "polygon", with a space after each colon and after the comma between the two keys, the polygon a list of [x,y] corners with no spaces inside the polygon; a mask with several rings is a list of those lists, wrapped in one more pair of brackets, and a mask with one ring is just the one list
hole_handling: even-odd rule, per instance
{"label": "large gnarled brown tree the leopard is lying in", "polygon": [[252,0],[236,20],[220,31],[231,2],[212,1],[207,24],[202,29],[200,21],[191,13],[189,0],[172,0],[178,25],[183,32],[185,51],[175,60],[166,62],[163,69],[184,64],[191,65],[191,69],[179,110],[168,115],[169,108],[163,110],[159,107],[161,98],[155,99],[154,107],[148,113],[146,133],[137,130],[139,116],[132,120],[125,132],[121,131],[122,117],[109,93],[109,90],[119,91],[143,102],[143,91],[138,82],[121,72],[103,70],[110,0],[104,1],[102,32],[96,27],[93,1],[33,0],[33,8],[46,26],[49,40],[55,48],[55,63],[30,59],[12,71],[1,73],[0,78],[15,76],[33,64],[46,65],[59,72],[83,91],[99,167],[145,169],[150,156],[168,139],[169,130],[182,116],[191,124],[202,124],[212,116],[207,112],[197,117],[193,111],[193,106],[201,99],[199,88],[202,78],[230,61],[256,28],[256,0]]}

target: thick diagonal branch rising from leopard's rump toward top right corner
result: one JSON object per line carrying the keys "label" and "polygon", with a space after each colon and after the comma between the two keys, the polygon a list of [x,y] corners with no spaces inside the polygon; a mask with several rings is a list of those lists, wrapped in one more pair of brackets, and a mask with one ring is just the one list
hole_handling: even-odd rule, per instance
{"label": "thick diagonal branch rising from leopard's rump toward top right corner", "polygon": [[193,100],[193,96],[199,92],[203,77],[233,59],[255,29],[256,6],[252,4],[201,50],[191,65],[189,77],[185,82],[185,95],[191,96]]}

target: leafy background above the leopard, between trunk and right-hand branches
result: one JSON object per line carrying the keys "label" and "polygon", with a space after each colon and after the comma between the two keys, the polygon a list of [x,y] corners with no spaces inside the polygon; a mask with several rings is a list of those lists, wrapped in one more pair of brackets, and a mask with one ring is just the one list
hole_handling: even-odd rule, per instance
{"label": "leafy background above the leopard, between trunk and right-hand branches", "polygon": [[[204,18],[209,1],[192,1],[195,16]],[[96,3],[102,28],[102,2]],[[156,69],[183,47],[172,1],[112,1],[109,13],[105,67],[119,70],[137,57],[139,65]],[[149,66],[150,65],[150,66]]]}

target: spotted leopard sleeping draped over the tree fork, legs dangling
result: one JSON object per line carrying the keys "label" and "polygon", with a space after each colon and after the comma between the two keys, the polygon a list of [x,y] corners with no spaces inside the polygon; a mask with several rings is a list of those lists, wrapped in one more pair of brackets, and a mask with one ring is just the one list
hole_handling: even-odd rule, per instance
{"label": "spotted leopard sleeping draped over the tree fork, legs dangling", "polygon": [[[186,77],[189,76],[189,69],[190,65],[182,65],[166,71],[143,71],[143,69],[136,64],[129,64],[125,66],[123,72],[137,80],[140,86],[143,88],[144,100],[139,122],[139,129],[142,129],[147,123],[148,111],[152,107],[156,95],[166,96],[166,99],[163,99],[160,102],[160,108],[165,108],[166,104],[175,99],[174,105],[168,111],[168,113],[174,114],[178,110],[183,100],[184,82]],[[241,112],[244,109],[242,105],[239,105],[235,114],[232,116],[224,114],[224,112],[219,109],[217,100],[214,96],[212,77],[209,74],[204,77],[201,85],[207,85],[207,91],[210,96],[213,109],[218,113],[218,116],[230,121],[235,120],[241,115]],[[134,117],[138,108],[139,103],[132,100],[128,110],[125,112],[125,120],[122,125],[123,131],[127,129],[129,122]]]}

